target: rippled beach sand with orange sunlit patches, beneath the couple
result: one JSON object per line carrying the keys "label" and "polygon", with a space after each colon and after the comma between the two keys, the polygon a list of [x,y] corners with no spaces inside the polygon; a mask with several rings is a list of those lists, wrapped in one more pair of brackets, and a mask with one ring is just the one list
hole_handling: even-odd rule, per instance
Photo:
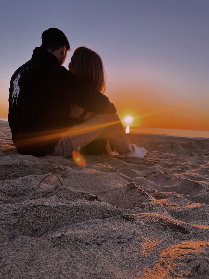
{"label": "rippled beach sand with orange sunlit patches, beneath the couple", "polygon": [[209,139],[129,135],[144,159],[81,168],[0,131],[0,278],[209,278]]}

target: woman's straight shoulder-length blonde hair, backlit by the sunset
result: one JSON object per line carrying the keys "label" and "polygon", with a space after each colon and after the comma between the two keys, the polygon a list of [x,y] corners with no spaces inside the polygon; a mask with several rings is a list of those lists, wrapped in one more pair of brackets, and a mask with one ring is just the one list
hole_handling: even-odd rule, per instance
{"label": "woman's straight shoulder-length blonde hair, backlit by the sunset", "polygon": [[105,93],[105,70],[99,54],[87,47],[77,47],[71,57],[74,75],[90,84],[95,90]]}

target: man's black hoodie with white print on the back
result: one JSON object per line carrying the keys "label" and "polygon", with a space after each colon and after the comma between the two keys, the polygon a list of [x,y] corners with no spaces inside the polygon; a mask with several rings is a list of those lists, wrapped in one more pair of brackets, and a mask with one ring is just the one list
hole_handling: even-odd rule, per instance
{"label": "man's black hoodie with white print on the back", "polygon": [[9,126],[21,154],[45,156],[66,131],[70,104],[95,113],[116,113],[109,99],[59,64],[55,55],[36,47],[32,59],[12,75]]}

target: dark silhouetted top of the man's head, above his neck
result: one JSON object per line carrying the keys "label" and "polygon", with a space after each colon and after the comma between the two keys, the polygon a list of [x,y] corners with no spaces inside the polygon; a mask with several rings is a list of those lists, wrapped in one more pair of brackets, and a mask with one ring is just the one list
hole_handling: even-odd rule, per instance
{"label": "dark silhouetted top of the man's head, above his neck", "polygon": [[70,44],[67,37],[61,30],[57,28],[49,28],[43,31],[41,40],[42,47],[45,49],[55,51],[60,47],[67,46],[67,49],[70,50]]}

